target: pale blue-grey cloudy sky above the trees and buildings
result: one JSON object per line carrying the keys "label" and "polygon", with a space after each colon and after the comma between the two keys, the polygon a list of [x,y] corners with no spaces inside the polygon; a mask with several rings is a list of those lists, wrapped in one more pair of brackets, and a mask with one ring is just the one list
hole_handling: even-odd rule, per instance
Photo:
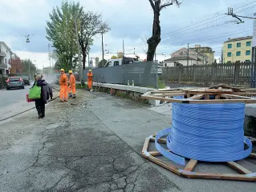
{"label": "pale blue-grey cloudy sky above the trees and buildings", "polygon": [[[183,1],[183,2],[182,2]],[[0,41],[6,42],[20,58],[30,58],[39,68],[49,66],[48,42],[45,26],[49,13],[61,0],[0,0]],[[75,1],[77,2],[77,1]],[[148,0],[80,0],[86,10],[103,15],[112,28],[104,35],[105,50],[116,53],[122,50],[146,58],[145,39],[152,33],[152,9]],[[253,0],[181,0],[180,7],[169,6],[161,13],[162,41],[157,47],[156,58],[163,60],[182,47],[195,44],[211,46],[221,55],[221,44],[228,38],[252,35],[253,20],[235,24],[237,19],[225,15],[229,6],[234,13],[254,15],[256,1]],[[228,23],[226,23],[228,22]],[[26,43],[26,34],[33,34]],[[106,58],[113,54],[106,54]],[[101,38],[95,37],[91,57],[101,56]]]}

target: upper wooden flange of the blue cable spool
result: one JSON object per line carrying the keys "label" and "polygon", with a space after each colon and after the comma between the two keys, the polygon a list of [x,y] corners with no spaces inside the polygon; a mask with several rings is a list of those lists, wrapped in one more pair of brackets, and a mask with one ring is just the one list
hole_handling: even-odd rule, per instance
{"label": "upper wooden flange of the blue cable spool", "polygon": [[[182,99],[173,98],[183,96]],[[165,102],[179,102],[185,104],[200,103],[231,103],[244,102],[256,103],[256,89],[238,90],[237,88],[225,89],[221,86],[213,88],[186,88],[175,90],[157,90],[143,94],[141,97],[150,100]],[[211,99],[210,99],[211,98]]]}

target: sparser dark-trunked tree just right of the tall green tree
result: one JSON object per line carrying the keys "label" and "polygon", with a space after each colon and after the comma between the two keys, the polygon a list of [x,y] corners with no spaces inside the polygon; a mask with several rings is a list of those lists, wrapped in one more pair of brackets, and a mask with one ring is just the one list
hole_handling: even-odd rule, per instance
{"label": "sparser dark-trunked tree just right of the tall green tree", "polygon": [[93,13],[92,11],[84,11],[78,18],[79,23],[79,44],[83,55],[83,70],[85,70],[85,62],[88,53],[88,46],[93,44],[93,37],[96,34],[104,34],[110,30],[106,22],[103,22],[102,15]]}

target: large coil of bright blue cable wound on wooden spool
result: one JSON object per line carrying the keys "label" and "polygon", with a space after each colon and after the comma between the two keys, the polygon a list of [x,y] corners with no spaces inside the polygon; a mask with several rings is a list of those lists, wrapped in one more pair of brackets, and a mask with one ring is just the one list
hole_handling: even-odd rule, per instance
{"label": "large coil of bright blue cable wound on wooden spool", "polygon": [[[244,116],[244,103],[173,103],[172,128],[156,134],[156,149],[182,166],[185,158],[205,162],[241,160],[252,151],[250,139],[243,135]],[[171,152],[157,142],[165,135]]]}

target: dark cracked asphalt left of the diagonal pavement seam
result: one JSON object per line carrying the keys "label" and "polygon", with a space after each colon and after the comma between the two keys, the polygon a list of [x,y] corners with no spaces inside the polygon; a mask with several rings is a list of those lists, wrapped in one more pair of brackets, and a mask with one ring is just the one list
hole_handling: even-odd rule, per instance
{"label": "dark cracked asphalt left of the diagonal pavement seam", "polygon": [[0,191],[181,191],[91,111],[97,97],[0,122]]}

